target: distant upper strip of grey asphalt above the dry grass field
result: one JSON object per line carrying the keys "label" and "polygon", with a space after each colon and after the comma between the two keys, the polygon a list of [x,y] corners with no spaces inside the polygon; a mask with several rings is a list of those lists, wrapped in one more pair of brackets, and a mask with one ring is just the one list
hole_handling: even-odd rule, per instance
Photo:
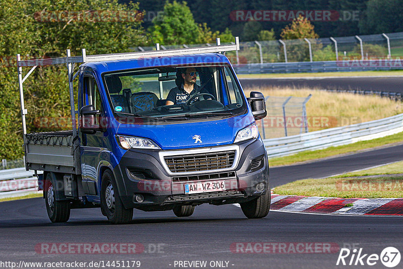
{"label": "distant upper strip of grey asphalt above the dry grass field", "polygon": [[403,93],[403,77],[309,78],[309,79],[240,79],[242,87],[295,87],[317,89],[367,90]]}

